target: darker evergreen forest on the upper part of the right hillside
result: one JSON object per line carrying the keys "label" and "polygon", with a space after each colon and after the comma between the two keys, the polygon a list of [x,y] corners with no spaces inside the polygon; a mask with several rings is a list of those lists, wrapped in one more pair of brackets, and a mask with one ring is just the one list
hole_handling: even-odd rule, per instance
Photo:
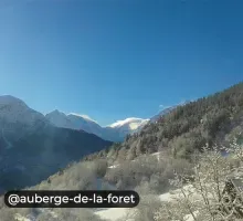
{"label": "darker evergreen forest on the upper part of the right hillside", "polygon": [[[241,130],[243,123],[243,83],[223,92],[178,106],[128,136],[123,144],[89,155],[85,160],[108,158],[110,161],[134,159],[142,154],[168,149],[175,157],[190,158],[205,144],[228,145]],[[239,137],[240,139],[241,137]]]}

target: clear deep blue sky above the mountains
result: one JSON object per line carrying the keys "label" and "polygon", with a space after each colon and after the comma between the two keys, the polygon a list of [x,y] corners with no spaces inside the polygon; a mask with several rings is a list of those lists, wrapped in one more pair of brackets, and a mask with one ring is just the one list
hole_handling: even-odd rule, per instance
{"label": "clear deep blue sky above the mountains", "polygon": [[0,94],[102,125],[243,80],[242,0],[1,0]]}

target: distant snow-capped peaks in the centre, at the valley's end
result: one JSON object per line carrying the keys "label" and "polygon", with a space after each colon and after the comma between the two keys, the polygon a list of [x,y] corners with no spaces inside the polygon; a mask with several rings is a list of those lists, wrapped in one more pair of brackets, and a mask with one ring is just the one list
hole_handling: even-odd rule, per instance
{"label": "distant snow-capped peaks in the centre, at the valley's end", "polygon": [[56,127],[84,130],[106,140],[123,141],[128,134],[133,134],[149,120],[141,118],[127,118],[109,126],[102,127],[95,120],[84,115],[64,114],[57,109],[45,115],[46,119]]}

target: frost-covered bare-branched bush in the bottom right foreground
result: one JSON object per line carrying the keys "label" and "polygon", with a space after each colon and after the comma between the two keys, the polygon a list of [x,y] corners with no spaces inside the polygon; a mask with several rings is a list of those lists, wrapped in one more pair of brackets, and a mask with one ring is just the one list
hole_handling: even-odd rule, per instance
{"label": "frost-covered bare-branched bush in the bottom right foreground", "polygon": [[[232,148],[231,151],[235,157],[240,156],[239,151],[243,154],[242,147]],[[243,169],[242,161],[232,164],[232,158],[223,157],[218,147],[204,149],[199,158],[193,180],[188,180],[187,186],[183,186],[180,177],[172,180],[171,183],[179,188],[178,194],[172,202],[161,204],[156,212],[156,221],[186,220],[189,217],[194,221],[243,219],[240,198],[234,199],[234,194],[223,192],[229,177],[242,177],[242,172],[239,172]]]}

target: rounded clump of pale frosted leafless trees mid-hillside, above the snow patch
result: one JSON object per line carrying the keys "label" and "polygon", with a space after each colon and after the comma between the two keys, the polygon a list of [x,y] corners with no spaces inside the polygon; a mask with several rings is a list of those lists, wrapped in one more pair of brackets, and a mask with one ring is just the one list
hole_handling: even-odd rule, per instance
{"label": "rounded clump of pale frosted leafless trees mid-hillside, above the snow patch", "polygon": [[191,164],[186,159],[175,159],[162,154],[160,156],[146,155],[108,169],[105,179],[115,183],[118,189],[135,188],[147,182],[152,190],[161,193],[170,187],[169,179],[175,177],[176,171],[191,175]]}

